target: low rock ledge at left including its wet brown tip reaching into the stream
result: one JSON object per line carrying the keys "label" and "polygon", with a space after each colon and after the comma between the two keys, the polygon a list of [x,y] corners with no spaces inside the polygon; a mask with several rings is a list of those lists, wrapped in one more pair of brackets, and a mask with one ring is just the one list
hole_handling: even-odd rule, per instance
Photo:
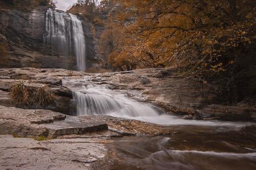
{"label": "low rock ledge at left including its wet brown tip reaching into the stream", "polygon": [[[163,126],[110,116],[66,116],[48,110],[20,109],[0,106],[0,134],[14,137],[57,138],[72,135],[83,138],[88,133],[102,132],[102,136],[170,134]],[[110,127],[110,128],[109,128]],[[92,134],[91,134],[92,135]]]}

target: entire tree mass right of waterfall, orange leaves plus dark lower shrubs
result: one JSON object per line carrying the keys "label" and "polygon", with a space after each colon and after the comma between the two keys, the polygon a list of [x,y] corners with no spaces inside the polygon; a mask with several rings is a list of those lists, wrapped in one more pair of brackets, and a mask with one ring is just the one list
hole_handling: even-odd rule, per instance
{"label": "entire tree mass right of waterfall, orange leaves plus dark lower shrubs", "polygon": [[75,8],[105,24],[101,52],[113,70],[174,66],[214,80],[229,101],[256,92],[253,0],[80,0]]}

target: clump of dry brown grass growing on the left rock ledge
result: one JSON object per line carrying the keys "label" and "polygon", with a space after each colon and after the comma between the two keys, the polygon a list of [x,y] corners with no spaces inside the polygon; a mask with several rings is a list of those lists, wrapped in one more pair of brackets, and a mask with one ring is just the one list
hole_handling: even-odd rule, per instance
{"label": "clump of dry brown grass growing on the left rock ledge", "polygon": [[24,86],[23,81],[11,87],[11,97],[18,105],[47,105],[54,101],[55,95],[47,86],[32,88]]}

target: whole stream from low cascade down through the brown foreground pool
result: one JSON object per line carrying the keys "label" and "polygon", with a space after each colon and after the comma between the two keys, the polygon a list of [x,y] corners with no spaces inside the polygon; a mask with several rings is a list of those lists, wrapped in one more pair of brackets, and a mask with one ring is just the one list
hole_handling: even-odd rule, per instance
{"label": "whole stream from low cascade down through the brown foreground pool", "polygon": [[113,139],[112,169],[256,169],[256,139],[241,131],[252,123],[183,120],[105,86],[83,80],[63,80],[63,86],[73,91],[78,116],[107,114],[175,132]]}

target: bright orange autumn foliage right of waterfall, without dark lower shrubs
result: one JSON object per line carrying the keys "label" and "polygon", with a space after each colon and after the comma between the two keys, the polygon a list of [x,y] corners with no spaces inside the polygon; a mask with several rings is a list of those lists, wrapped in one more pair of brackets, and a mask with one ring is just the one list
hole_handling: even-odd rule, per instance
{"label": "bright orange autumn foliage right of waterfall, without dark lower shrubs", "polygon": [[194,65],[224,71],[254,45],[255,12],[250,0],[122,0],[102,36],[114,50],[110,65],[121,70]]}

